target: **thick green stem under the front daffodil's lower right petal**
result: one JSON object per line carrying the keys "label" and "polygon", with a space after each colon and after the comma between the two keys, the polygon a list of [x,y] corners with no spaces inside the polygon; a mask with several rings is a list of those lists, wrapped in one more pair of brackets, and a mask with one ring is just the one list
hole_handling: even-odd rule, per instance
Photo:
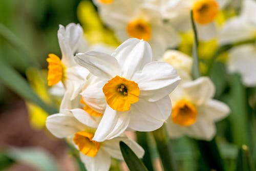
{"label": "thick green stem under the front daffodil's lower right petal", "polygon": [[159,156],[161,158],[164,170],[166,171],[178,170],[176,160],[174,159],[173,151],[170,145],[170,141],[167,138],[168,135],[164,125],[160,127],[158,130],[153,131],[152,133],[156,141],[157,149],[158,149]]}

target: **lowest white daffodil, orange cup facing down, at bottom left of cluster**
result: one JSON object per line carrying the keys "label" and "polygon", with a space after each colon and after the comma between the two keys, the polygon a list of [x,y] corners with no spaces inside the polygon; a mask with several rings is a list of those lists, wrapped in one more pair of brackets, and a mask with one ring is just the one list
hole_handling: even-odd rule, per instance
{"label": "lowest white daffodil, orange cup facing down, at bottom left of cluster", "polygon": [[143,157],[143,148],[126,136],[104,142],[92,140],[98,123],[84,110],[73,109],[63,112],[65,113],[49,116],[46,127],[54,136],[68,138],[74,144],[87,170],[109,170],[111,157],[123,160],[120,141],[125,142],[139,158]]}

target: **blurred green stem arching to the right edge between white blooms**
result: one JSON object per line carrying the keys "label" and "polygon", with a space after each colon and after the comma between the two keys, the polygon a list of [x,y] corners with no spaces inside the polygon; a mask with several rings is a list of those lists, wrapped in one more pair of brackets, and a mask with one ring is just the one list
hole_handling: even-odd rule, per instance
{"label": "blurred green stem arching to the right edge between white blooms", "polygon": [[238,41],[238,42],[234,42],[233,44],[226,44],[226,45],[222,45],[220,46],[215,53],[210,57],[210,60],[208,62],[208,67],[207,67],[207,72],[206,75],[209,75],[211,70],[212,70],[212,66],[214,65],[214,62],[216,61],[216,59],[218,58],[218,56],[223,53],[226,52],[228,50],[230,50],[233,47],[237,47],[240,45],[245,45],[245,44],[252,44],[254,43],[256,40],[255,38],[253,39],[247,39],[247,40],[242,40],[242,41]]}

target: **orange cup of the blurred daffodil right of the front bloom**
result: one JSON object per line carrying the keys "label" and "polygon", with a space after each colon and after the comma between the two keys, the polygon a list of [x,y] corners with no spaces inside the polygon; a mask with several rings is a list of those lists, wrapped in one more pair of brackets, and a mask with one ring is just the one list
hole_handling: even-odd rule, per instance
{"label": "orange cup of the blurred daffodil right of the front bloom", "polygon": [[173,108],[172,120],[181,126],[190,126],[196,122],[197,114],[197,109],[192,103],[181,100]]}

